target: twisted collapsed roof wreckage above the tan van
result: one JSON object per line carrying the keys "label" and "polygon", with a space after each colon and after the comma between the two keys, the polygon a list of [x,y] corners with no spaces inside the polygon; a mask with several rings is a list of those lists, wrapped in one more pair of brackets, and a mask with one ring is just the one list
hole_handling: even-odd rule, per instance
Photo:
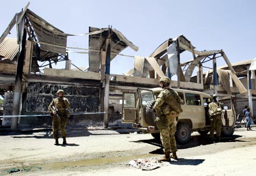
{"label": "twisted collapsed roof wreckage above the tan van", "polygon": [[[192,53],[193,59],[185,63],[180,63],[180,53],[185,52],[186,50]],[[154,58],[155,61],[157,61],[157,65],[149,64],[149,59],[141,59],[140,57],[135,56],[134,69],[127,72],[126,75],[133,74],[134,76],[143,77],[147,77],[149,75],[150,78],[155,78],[155,72],[157,72],[160,77],[162,77],[162,73],[164,75],[168,75],[168,73],[173,75],[176,73],[178,76],[178,81],[192,81],[196,83],[196,76],[192,76],[194,69],[198,66],[201,67],[202,64],[207,61],[219,58],[221,56],[226,61],[227,66],[219,68],[217,70],[217,74],[222,86],[224,89],[226,89],[226,92],[231,94],[230,84],[228,84],[230,79],[229,75],[236,84],[236,87],[240,93],[247,92],[241,81],[238,79],[238,76],[244,75],[244,73],[242,73],[244,70],[246,70],[244,66],[240,66],[239,64],[232,66],[223,50],[195,50],[195,47],[183,35],[177,36],[175,39],[167,39],[160,46],[158,46],[157,49],[151,53],[151,55],[149,55],[149,58]],[[162,73],[159,73],[158,67],[162,67]],[[138,70],[140,70],[140,75],[137,73]],[[208,72],[204,74],[204,84],[209,84],[213,81],[213,76],[211,75],[212,72],[213,70],[208,70]]]}

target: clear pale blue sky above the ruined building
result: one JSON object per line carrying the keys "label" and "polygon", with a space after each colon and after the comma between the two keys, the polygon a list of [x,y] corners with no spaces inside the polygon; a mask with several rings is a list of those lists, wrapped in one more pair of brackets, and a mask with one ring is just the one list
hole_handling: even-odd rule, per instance
{"label": "clear pale blue sky above the ruined building", "polygon": [[[124,55],[149,56],[166,39],[184,35],[197,50],[223,49],[231,63],[256,57],[253,0],[9,0],[1,2],[0,35],[27,2],[30,10],[66,33],[87,33],[89,26],[112,25],[140,47],[138,52],[125,49]],[[9,37],[16,38],[15,27]],[[88,49],[88,36],[68,37],[68,46]],[[88,66],[88,55],[70,54],[69,59],[76,66]],[[190,54],[182,58],[189,59]],[[218,66],[224,64],[224,59],[217,60]],[[133,58],[117,56],[110,73],[126,73],[132,67]]]}

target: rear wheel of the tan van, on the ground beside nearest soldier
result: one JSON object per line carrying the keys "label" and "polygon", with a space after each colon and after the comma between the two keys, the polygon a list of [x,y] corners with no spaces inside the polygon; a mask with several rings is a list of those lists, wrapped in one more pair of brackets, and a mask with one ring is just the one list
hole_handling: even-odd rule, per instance
{"label": "rear wheel of the tan van, on the ground beside nearest soldier", "polygon": [[190,141],[191,128],[187,123],[180,123],[177,127],[177,132],[175,134],[176,141],[179,144],[185,144]]}

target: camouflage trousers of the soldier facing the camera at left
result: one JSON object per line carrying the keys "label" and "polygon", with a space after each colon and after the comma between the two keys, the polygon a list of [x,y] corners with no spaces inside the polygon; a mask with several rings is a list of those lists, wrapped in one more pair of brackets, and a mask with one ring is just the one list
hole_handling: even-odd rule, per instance
{"label": "camouflage trousers of the soldier facing the camera at left", "polygon": [[59,138],[59,127],[60,127],[60,134],[62,134],[62,138],[66,138],[66,123],[67,123],[67,119],[65,117],[60,117],[57,118],[56,116],[54,116],[52,118],[52,127],[53,127],[53,136],[54,139],[58,139]]}

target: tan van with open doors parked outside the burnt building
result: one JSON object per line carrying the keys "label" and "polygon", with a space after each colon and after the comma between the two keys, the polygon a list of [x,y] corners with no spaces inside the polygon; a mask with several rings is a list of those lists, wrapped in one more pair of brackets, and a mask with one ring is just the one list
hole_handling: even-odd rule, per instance
{"label": "tan van with open doors parked outside the burnt building", "polygon": [[[132,123],[132,126],[143,132],[149,132],[153,137],[160,137],[160,130],[155,126],[155,117],[148,113],[152,110],[152,103],[161,92],[160,87],[154,89],[137,89],[137,93],[123,93],[122,121]],[[176,118],[176,141],[184,144],[190,140],[191,132],[197,131],[206,135],[210,130],[208,103],[212,96],[194,90],[173,89],[182,98],[182,109]],[[235,128],[235,113],[231,98],[223,98],[224,110],[222,113],[222,135],[233,135]]]}

